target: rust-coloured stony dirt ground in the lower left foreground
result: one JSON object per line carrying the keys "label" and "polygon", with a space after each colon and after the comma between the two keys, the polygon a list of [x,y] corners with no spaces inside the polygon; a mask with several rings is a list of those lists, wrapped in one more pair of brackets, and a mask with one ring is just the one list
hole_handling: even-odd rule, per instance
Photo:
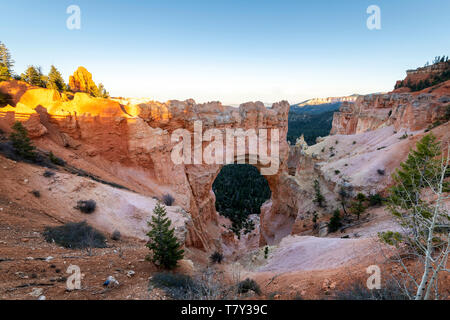
{"label": "rust-coloured stony dirt ground in the lower left foreground", "polygon": [[[157,291],[148,292],[148,279],[157,269],[144,259],[148,253],[144,241],[109,240],[108,248],[93,249],[89,256],[87,251],[47,243],[41,235],[45,226],[60,223],[43,212],[4,197],[0,208],[0,299],[37,299],[30,295],[34,288],[42,289],[48,300],[164,298]],[[81,290],[66,290],[71,264],[81,269]],[[134,275],[127,275],[130,270]],[[119,285],[105,288],[108,276]]]}

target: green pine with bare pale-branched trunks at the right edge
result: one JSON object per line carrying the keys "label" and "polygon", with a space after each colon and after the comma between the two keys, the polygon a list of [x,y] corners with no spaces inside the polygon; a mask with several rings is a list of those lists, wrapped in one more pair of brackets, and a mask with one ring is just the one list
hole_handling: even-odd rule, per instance
{"label": "green pine with bare pale-branched trunks at the right edge", "polygon": [[[379,234],[382,241],[397,248],[397,260],[405,278],[417,288],[416,300],[439,299],[439,274],[446,269],[450,254],[450,215],[445,206],[448,199],[450,145],[447,156],[441,156],[440,143],[430,133],[416,144],[405,162],[393,175],[388,208],[402,232]],[[427,194],[423,194],[424,189]],[[400,245],[402,244],[402,245]],[[408,258],[405,258],[408,257]],[[419,269],[410,268],[405,259],[415,257]],[[417,281],[416,281],[417,279]],[[407,286],[404,286],[407,287]]]}

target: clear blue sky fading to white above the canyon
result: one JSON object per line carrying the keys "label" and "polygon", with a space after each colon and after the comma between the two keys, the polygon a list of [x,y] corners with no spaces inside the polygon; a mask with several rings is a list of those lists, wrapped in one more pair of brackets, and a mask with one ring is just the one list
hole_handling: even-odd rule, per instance
{"label": "clear blue sky fading to white above the canyon", "polygon": [[[69,30],[69,5],[81,29]],[[369,5],[381,30],[366,27]],[[448,0],[2,1],[15,70],[83,65],[113,96],[226,104],[391,90],[450,55]],[[5,14],[7,13],[7,14]]]}

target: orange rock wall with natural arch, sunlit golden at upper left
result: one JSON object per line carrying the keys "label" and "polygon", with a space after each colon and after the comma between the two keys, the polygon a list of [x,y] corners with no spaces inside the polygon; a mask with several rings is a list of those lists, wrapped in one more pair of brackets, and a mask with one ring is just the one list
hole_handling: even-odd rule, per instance
{"label": "orange rock wall with natural arch, sunlit golden at upper left", "polygon": [[[65,148],[73,158],[86,160],[90,168],[117,177],[133,190],[145,190],[158,197],[172,194],[176,204],[192,216],[186,244],[205,250],[212,249],[217,243],[213,240],[220,238],[212,184],[224,164],[174,163],[172,155],[178,140],[173,140],[173,133],[185,129],[195,141],[196,121],[201,121],[202,135],[215,129],[224,142],[228,129],[266,130],[268,154],[272,154],[275,145],[279,149],[278,170],[266,176],[272,190],[268,216],[279,217],[280,221],[289,216],[289,206],[284,203],[280,186],[287,175],[287,101],[275,103],[272,108],[266,108],[261,102],[233,108],[220,102],[197,104],[193,100],[125,104],[85,93],[76,93],[68,100],[54,90],[18,82],[1,83],[0,92],[13,96],[11,105],[0,109],[2,130],[8,131],[15,120],[27,121],[33,137]],[[206,140],[200,143],[204,150],[215,142]],[[238,156],[236,149],[233,160],[257,159],[248,143],[244,151],[243,156]],[[259,160],[254,165],[264,170],[267,164]],[[265,225],[264,221],[261,223]]]}

